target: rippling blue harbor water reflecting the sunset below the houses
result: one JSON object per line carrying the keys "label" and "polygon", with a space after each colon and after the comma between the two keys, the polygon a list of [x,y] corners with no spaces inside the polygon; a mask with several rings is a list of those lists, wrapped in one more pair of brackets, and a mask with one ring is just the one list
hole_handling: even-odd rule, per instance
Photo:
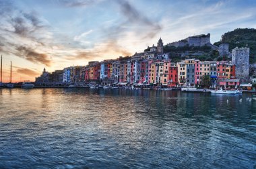
{"label": "rippling blue harbor water reflecting the sunset below the houses", "polygon": [[248,97],[0,89],[0,168],[256,168]]}

